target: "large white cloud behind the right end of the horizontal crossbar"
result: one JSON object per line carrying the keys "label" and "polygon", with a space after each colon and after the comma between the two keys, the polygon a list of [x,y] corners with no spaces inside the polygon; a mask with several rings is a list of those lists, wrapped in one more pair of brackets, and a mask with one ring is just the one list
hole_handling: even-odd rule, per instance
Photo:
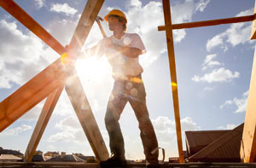
{"label": "large white cloud behind the right end of the horizontal crossbar", "polygon": [[[236,16],[249,14],[253,14],[253,9],[241,11]],[[251,28],[251,22],[232,24],[225,32],[221,32],[207,41],[207,51],[211,51],[218,46],[225,51],[229,48],[229,44],[235,47],[238,44],[253,43],[253,40],[250,40]]]}

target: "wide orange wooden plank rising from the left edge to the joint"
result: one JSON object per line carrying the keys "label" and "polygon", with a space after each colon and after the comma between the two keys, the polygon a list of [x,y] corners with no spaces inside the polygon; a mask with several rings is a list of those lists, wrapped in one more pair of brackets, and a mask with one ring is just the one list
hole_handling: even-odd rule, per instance
{"label": "wide orange wooden plank rising from the left edge to the joint", "polygon": [[0,103],[0,132],[60,87],[62,68],[61,59],[55,61]]}

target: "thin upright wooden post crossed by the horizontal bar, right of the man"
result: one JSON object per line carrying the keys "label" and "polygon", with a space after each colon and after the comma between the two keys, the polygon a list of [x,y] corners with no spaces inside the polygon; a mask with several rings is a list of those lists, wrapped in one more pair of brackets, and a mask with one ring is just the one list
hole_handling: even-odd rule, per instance
{"label": "thin upright wooden post crossed by the horizontal bar, right of the man", "polygon": [[176,65],[175,65],[175,55],[174,55],[174,44],[173,44],[173,37],[172,37],[172,18],[171,18],[171,9],[170,9],[169,0],[163,0],[163,9],[164,9],[164,15],[165,15],[166,42],[167,42],[169,66],[170,66],[171,81],[172,81],[172,100],[173,100],[174,116],[175,116],[175,123],[176,123],[177,149],[178,149],[178,155],[179,155],[179,162],[183,163],[184,162],[183,142],[182,142],[182,134],[181,134],[179,107],[178,107],[177,75],[176,75]]}

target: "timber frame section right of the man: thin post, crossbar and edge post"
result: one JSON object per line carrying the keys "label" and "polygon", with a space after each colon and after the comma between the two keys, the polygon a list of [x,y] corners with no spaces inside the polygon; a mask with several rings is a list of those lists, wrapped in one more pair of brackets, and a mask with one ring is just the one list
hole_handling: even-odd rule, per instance
{"label": "timber frame section right of the man: thin post, crossbar and edge post", "polygon": [[[226,18],[220,20],[205,20],[197,21],[190,23],[181,23],[172,25],[172,16],[170,9],[170,0],[162,0],[163,9],[165,16],[165,26],[158,26],[159,31],[166,31],[166,43],[169,56],[169,66],[171,74],[171,84],[172,84],[172,99],[174,107],[174,116],[176,123],[176,133],[177,133],[177,149],[179,155],[179,162],[183,163],[183,146],[182,146],[182,134],[181,134],[181,125],[180,125],[180,115],[179,115],[179,105],[178,105],[178,96],[177,96],[177,75],[176,75],[176,66],[175,66],[175,55],[174,55],[174,44],[172,30],[175,29],[184,29],[184,28],[195,28],[201,26],[217,26],[221,24],[230,24],[230,23],[239,23],[245,21],[253,21],[252,27],[252,37],[251,39],[256,39],[256,0],[254,7],[254,14]],[[251,74],[251,83],[247,100],[247,112],[244,122],[244,128],[241,138],[241,151],[240,157],[241,162],[253,162],[256,156],[256,48],[254,53],[253,61],[253,70]]]}

